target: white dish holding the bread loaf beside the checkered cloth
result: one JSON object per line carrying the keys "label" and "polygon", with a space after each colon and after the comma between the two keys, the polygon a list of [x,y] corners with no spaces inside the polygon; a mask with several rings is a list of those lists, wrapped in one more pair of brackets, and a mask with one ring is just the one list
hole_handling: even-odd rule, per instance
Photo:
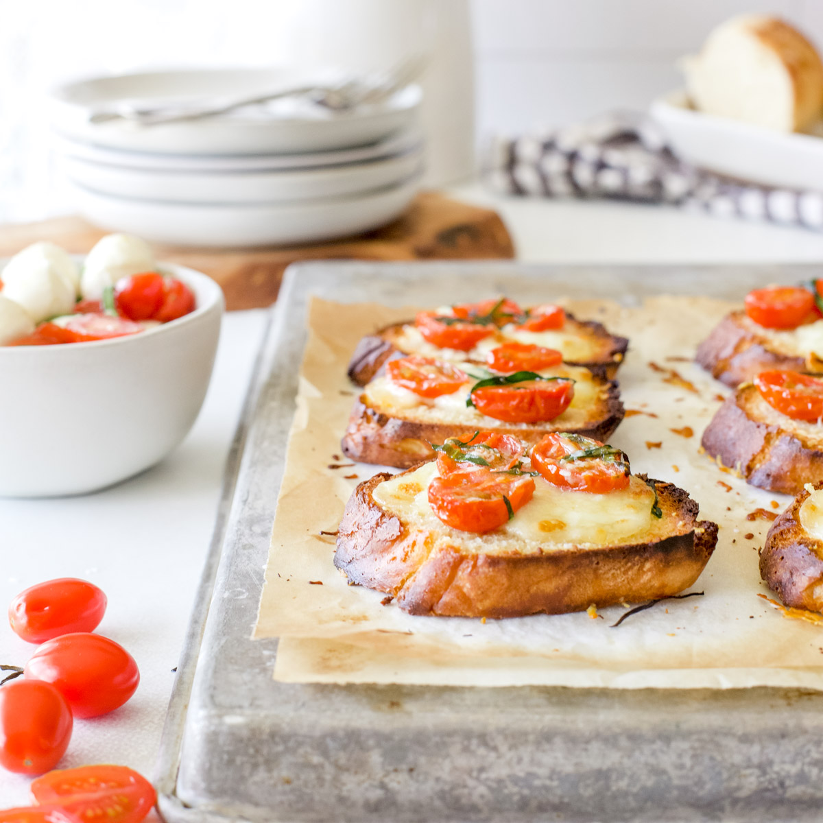
{"label": "white dish holding the bread loaf beside the checkered cloth", "polygon": [[703,169],[781,188],[823,191],[823,137],[785,134],[690,108],[685,91],[651,106],[677,156]]}

